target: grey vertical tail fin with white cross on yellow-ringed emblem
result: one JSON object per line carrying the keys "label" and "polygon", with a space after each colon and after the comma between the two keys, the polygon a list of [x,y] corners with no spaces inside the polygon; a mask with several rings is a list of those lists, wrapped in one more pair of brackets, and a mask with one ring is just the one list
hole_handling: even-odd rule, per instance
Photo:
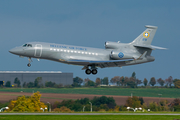
{"label": "grey vertical tail fin with white cross on yellow-ringed emblem", "polygon": [[156,30],[158,27],[156,26],[145,26],[147,29],[142,32],[133,42],[130,44],[132,45],[141,45],[141,46],[148,46],[151,45],[151,42],[154,38],[154,35],[156,33]]}

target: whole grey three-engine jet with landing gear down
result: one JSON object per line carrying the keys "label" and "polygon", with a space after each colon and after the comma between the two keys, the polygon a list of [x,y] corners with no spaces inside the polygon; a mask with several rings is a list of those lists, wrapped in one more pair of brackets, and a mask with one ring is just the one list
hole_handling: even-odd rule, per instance
{"label": "whole grey three-engine jet with landing gear down", "polygon": [[48,59],[72,65],[83,66],[86,74],[97,74],[97,68],[121,67],[128,65],[152,62],[151,56],[154,49],[166,49],[152,46],[151,42],[157,27],[146,25],[142,32],[131,43],[105,42],[105,49],[81,47],[73,45],[29,42],[20,47],[9,50],[10,53],[20,57],[28,57],[28,67],[31,66],[31,58]]}

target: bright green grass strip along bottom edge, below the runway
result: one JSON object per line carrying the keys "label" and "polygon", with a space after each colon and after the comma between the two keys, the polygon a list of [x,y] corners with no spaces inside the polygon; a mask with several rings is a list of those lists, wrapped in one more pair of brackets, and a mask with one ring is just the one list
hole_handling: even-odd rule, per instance
{"label": "bright green grass strip along bottom edge, below the runway", "polygon": [[0,120],[174,120],[176,115],[0,115]]}

